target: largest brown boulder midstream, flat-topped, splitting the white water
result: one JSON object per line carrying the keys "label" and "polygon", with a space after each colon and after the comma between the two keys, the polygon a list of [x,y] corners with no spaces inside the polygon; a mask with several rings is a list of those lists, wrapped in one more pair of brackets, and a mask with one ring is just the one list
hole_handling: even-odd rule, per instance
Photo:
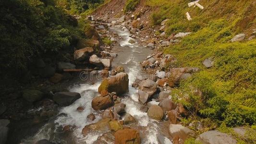
{"label": "largest brown boulder midstream, flat-topped, splitting the white water", "polygon": [[115,76],[104,79],[98,87],[98,92],[101,93],[102,91],[116,92],[117,94],[129,92],[128,74],[120,72]]}

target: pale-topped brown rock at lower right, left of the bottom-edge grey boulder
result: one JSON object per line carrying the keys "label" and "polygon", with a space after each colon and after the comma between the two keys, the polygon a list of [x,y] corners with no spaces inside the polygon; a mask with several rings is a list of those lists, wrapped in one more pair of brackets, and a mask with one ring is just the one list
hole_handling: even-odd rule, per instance
{"label": "pale-topped brown rock at lower right, left of the bottom-edge grey boulder", "polygon": [[183,140],[195,137],[195,132],[193,130],[184,127],[181,124],[170,124],[169,133],[171,134],[172,137],[179,136],[179,138]]}

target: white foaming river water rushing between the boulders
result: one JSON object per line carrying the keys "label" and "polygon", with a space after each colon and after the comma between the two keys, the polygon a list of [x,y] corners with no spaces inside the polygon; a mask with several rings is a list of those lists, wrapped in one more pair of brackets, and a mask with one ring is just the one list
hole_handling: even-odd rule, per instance
{"label": "white foaming river water rushing between the boulders", "polygon": [[[118,57],[112,62],[112,67],[122,65],[129,75],[129,93],[122,96],[121,102],[126,104],[126,112],[130,113],[137,120],[130,127],[139,129],[142,144],[158,144],[157,134],[160,131],[159,122],[149,119],[146,112],[139,110],[142,105],[138,103],[137,90],[131,86],[137,76],[140,74],[146,75],[139,62],[143,61],[152,51],[140,46],[137,42],[134,44],[129,43],[128,41],[133,38],[129,37],[130,32],[124,27],[109,27],[109,31],[119,36],[117,42],[120,44],[120,46],[113,48],[113,51],[118,53]],[[93,132],[84,137],[81,132],[85,125],[95,123],[101,119],[100,114],[91,107],[92,99],[99,95],[99,85],[100,81],[95,84],[88,82],[88,84],[71,85],[69,90],[80,93],[81,98],[76,100],[72,105],[61,108],[59,115],[54,120],[50,120],[34,136],[24,139],[24,143],[48,139],[61,144],[94,144],[103,133]],[[78,112],[76,110],[78,107],[84,107],[85,110]],[[87,115],[90,113],[95,114],[95,120],[86,120]],[[72,125],[75,128],[73,131],[63,132],[61,128],[66,125]],[[113,142],[108,143],[112,144]]]}

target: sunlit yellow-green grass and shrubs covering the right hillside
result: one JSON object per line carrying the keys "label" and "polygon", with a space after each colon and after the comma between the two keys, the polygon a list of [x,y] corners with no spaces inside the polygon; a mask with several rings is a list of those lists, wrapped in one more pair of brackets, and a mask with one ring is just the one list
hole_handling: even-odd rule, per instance
{"label": "sunlit yellow-green grass and shrubs covering the right hillside", "polygon": [[[193,32],[179,44],[166,48],[180,67],[198,67],[188,80],[172,91],[176,101],[193,114],[213,120],[218,125],[235,127],[256,125],[256,40],[231,43],[239,33],[252,35],[255,23],[253,0],[201,0],[205,7],[188,7],[193,0],[147,0],[157,6],[151,14],[153,25],[169,19],[167,36],[178,32]],[[192,21],[188,21],[189,12]],[[206,58],[214,60],[205,68]]]}

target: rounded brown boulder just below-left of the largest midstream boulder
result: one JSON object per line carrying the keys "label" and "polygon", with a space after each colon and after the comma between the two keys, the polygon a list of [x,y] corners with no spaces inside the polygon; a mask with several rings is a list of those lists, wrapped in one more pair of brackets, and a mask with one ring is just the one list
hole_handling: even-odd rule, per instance
{"label": "rounded brown boulder just below-left of the largest midstream boulder", "polygon": [[110,96],[96,96],[92,100],[92,108],[94,110],[102,110],[113,106],[113,101]]}

